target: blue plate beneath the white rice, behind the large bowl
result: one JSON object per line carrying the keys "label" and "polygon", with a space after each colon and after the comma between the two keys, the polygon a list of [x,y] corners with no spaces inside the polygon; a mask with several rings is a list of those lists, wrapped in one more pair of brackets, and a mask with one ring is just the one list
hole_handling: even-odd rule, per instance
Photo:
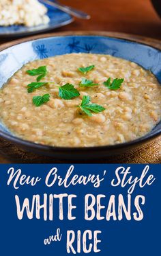
{"label": "blue plate beneath the white rice, behind the large bowl", "polygon": [[38,34],[40,32],[53,30],[57,27],[62,27],[63,25],[68,25],[74,20],[69,14],[47,4],[45,5],[46,8],[48,8],[47,15],[50,18],[50,22],[48,24],[34,27],[26,27],[23,25],[12,25],[8,27],[0,26],[0,36],[27,36],[29,34]]}

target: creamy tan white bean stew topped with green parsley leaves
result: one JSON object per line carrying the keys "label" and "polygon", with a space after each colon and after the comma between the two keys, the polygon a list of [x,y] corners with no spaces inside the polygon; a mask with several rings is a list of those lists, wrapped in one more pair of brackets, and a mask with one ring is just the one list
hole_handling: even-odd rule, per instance
{"label": "creamy tan white bean stew topped with green parsley leaves", "polygon": [[1,120],[50,146],[105,146],[146,135],[161,119],[161,87],[134,62],[66,54],[23,66],[3,86]]}

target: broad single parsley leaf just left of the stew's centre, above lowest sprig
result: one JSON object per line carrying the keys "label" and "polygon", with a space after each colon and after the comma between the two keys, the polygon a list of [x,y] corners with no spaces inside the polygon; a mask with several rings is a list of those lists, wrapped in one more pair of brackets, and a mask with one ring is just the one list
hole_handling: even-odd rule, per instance
{"label": "broad single parsley leaf just left of the stew's centre, above lowest sprig", "polygon": [[59,87],[59,97],[64,100],[71,100],[74,97],[78,97],[80,93],[74,88],[72,84],[64,84]]}

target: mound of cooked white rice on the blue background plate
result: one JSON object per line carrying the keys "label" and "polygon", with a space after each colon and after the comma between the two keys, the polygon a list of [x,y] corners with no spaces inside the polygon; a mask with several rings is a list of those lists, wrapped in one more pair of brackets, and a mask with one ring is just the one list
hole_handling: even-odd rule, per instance
{"label": "mound of cooked white rice on the blue background plate", "polygon": [[47,8],[37,0],[0,0],[0,25],[47,24]]}

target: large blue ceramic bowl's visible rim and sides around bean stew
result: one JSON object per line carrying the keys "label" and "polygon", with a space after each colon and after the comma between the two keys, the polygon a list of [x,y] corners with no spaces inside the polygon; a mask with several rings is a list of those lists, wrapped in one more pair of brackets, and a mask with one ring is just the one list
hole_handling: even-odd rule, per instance
{"label": "large blue ceramic bowl's visible rim and sides around bean stew", "polygon": [[[27,40],[27,39],[26,39]],[[0,52],[0,87],[20,69],[25,63],[55,55],[84,52],[92,54],[111,54],[136,62],[145,69],[152,71],[161,83],[161,51],[148,45],[110,38],[108,36],[53,36],[27,40],[25,43],[16,43],[12,47]],[[93,159],[109,157],[123,153],[130,148],[147,143],[147,141],[161,134],[161,122],[144,137],[120,143],[115,146],[100,146],[93,148],[56,148],[42,146],[19,139],[0,123],[0,136],[30,152],[39,152],[57,159]]]}

